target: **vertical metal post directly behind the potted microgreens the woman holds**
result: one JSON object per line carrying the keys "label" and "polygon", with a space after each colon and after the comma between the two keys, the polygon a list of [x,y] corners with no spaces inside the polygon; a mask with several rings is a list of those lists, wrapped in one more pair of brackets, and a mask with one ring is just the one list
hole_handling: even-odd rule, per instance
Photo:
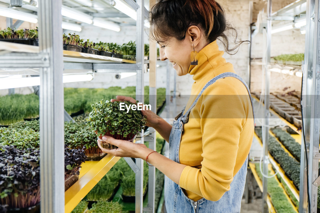
{"label": "vertical metal post directly behind the potted microgreens the woman holds", "polygon": [[[137,0],[137,4],[140,6],[137,9],[137,50],[136,50],[136,63],[140,65],[140,69],[137,69],[136,76],[136,100],[139,102],[144,102],[144,44],[143,44],[143,33],[144,33],[144,0]],[[141,132],[141,138],[136,143],[144,144],[144,131]],[[142,213],[143,211],[143,160],[140,158],[136,158],[136,165],[140,169],[139,172],[136,173],[136,200],[135,200],[135,212]]]}

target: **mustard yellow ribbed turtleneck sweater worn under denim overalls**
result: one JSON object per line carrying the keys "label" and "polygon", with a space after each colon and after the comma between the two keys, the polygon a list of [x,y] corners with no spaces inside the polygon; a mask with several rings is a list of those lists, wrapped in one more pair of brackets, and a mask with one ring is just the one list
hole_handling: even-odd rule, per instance
{"label": "mustard yellow ribbed turtleneck sweater worn under denim overalls", "polygon": [[[224,72],[235,73],[223,53],[216,41],[199,51],[198,65],[189,68],[195,82],[185,112],[209,80]],[[187,166],[179,185],[191,200],[218,201],[230,190],[252,144],[252,106],[244,84],[226,77],[210,85],[183,129],[179,158]]]}

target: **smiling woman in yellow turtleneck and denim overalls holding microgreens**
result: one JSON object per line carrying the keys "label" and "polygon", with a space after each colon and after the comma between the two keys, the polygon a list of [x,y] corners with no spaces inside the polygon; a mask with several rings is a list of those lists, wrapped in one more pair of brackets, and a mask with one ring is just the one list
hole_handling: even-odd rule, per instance
{"label": "smiling woman in yellow turtleneck and denim overalls holding microgreens", "polygon": [[[220,37],[228,53],[235,49],[228,48],[225,14],[214,0],[160,0],[152,8],[150,26],[161,46],[160,59],[168,59],[179,76],[190,74],[195,80],[173,126],[142,111],[147,126],[169,141],[170,159],[145,145],[107,136],[102,139],[119,148],[100,148],[115,156],[148,156],[147,162],[166,175],[168,212],[240,212],[254,118],[249,89],[216,43]],[[135,103],[125,96],[111,101],[119,100]]]}

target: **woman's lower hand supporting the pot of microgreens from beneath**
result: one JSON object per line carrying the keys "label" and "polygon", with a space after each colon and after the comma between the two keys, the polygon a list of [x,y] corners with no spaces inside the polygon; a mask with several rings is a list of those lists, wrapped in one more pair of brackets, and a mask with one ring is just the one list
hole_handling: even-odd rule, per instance
{"label": "woman's lower hand supporting the pot of microgreens from beneath", "polygon": [[116,149],[104,149],[100,145],[100,140],[98,139],[98,146],[104,153],[112,154],[116,157],[132,157],[141,158],[143,151],[147,151],[147,146],[144,144],[135,144],[127,140],[118,140],[110,136],[103,136],[102,140],[109,144],[118,146]]}

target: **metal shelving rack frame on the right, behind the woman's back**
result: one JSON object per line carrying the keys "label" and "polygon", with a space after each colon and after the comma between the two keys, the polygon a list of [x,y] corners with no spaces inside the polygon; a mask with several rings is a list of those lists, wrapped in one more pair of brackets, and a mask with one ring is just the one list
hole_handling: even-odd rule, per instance
{"label": "metal shelving rack frame on the right, behind the woman's back", "polygon": [[[306,6],[306,45],[305,60],[302,66],[303,88],[302,88],[302,114],[303,114],[303,132],[301,143],[301,160],[300,160],[300,206],[299,212],[308,212],[308,194],[307,194],[307,162],[305,154],[304,139],[306,141],[308,156],[308,188],[310,196],[310,212],[317,211],[317,189],[320,184],[318,177],[319,166],[319,135],[320,135],[320,4],[319,0],[298,0],[288,6],[272,13],[272,0],[268,0],[267,8],[267,50],[266,58],[262,62],[265,65],[266,82],[265,82],[265,119],[264,119],[264,144],[263,144],[263,172],[267,174],[268,163],[268,132],[269,132],[269,82],[270,82],[270,52],[271,52],[271,29],[272,20],[294,20],[294,17],[300,14],[301,10],[294,8],[305,3]],[[293,12],[293,16],[288,16],[288,11]],[[271,161],[272,162],[272,161]],[[263,199],[264,205],[262,211],[268,212],[267,205],[267,179],[263,178]]]}

